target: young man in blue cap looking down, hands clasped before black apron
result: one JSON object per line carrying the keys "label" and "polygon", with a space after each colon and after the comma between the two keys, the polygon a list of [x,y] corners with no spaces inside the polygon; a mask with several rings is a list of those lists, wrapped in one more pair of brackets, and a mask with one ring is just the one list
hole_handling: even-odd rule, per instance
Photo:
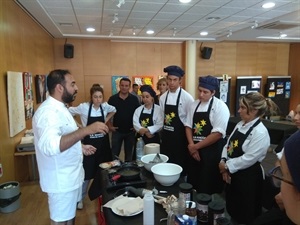
{"label": "young man in blue cap looking down, hands clasped before black apron", "polygon": [[214,96],[218,89],[217,78],[199,78],[198,99],[189,106],[185,124],[189,143],[187,181],[198,193],[223,191],[219,162],[230,113],[227,105]]}

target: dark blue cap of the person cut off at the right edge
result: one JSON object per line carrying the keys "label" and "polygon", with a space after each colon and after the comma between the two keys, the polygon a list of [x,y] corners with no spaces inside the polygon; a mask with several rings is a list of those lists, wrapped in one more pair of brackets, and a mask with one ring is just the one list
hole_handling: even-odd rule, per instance
{"label": "dark blue cap of the person cut off at the right edge", "polygon": [[300,130],[284,143],[285,159],[297,190],[300,192]]}

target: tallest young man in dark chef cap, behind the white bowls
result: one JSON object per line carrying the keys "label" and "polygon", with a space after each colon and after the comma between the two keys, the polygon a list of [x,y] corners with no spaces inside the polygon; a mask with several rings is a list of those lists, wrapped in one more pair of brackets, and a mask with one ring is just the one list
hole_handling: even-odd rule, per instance
{"label": "tallest young man in dark chef cap, behind the white bowls", "polygon": [[182,166],[185,174],[188,150],[184,124],[194,99],[180,87],[184,71],[179,66],[168,66],[164,72],[167,73],[169,90],[159,98],[165,118],[160,149],[169,157],[169,162]]}

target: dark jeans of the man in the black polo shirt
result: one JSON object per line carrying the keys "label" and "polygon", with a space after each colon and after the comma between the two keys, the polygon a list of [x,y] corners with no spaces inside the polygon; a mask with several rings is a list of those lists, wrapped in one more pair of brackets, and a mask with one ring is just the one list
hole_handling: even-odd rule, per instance
{"label": "dark jeans of the man in the black polo shirt", "polygon": [[135,142],[135,132],[120,133],[115,131],[111,136],[112,153],[116,156],[120,155],[122,143],[124,141],[125,161],[132,161],[133,146]]}

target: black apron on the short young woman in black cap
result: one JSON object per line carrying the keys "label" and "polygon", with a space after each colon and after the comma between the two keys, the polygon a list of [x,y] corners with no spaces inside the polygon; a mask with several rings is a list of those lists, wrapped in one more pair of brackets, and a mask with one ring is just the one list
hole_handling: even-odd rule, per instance
{"label": "black apron on the short young woman in black cap", "polygon": [[[140,121],[140,124],[145,128],[154,125],[154,123],[153,123],[154,106],[155,105],[153,104],[151,114],[143,113],[144,108],[141,111],[139,121]],[[140,137],[140,135],[137,134],[137,138],[139,138],[139,137]],[[144,135],[143,140],[144,140],[145,145],[149,144],[149,143],[160,144],[160,136],[159,136],[158,132],[154,133],[154,136],[152,138],[148,138],[146,135]]]}

